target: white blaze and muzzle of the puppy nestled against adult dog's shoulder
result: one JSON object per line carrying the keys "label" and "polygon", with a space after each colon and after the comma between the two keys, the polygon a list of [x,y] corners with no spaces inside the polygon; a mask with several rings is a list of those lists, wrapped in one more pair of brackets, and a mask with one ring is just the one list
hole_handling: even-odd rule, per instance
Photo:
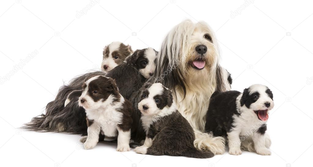
{"label": "white blaze and muzzle of the puppy nestled against adult dog's shoulder", "polygon": [[140,69],[140,73],[145,77],[145,78],[150,78],[150,73],[154,73],[154,70],[156,69],[156,65],[154,64],[154,60],[156,58],[156,52],[154,51],[153,48],[148,47],[145,51],[145,56],[147,57],[148,61],[148,65],[143,68]]}

